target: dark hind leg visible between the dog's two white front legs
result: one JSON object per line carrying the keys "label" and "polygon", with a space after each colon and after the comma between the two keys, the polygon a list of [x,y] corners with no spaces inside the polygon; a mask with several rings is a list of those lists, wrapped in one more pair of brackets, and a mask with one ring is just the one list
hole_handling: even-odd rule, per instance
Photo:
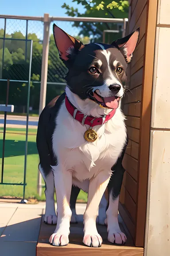
{"label": "dark hind leg visible between the dog's two white front legs", "polygon": [[80,188],[72,186],[71,196],[70,196],[70,208],[72,211],[72,216],[70,223],[78,223],[78,216],[76,214],[76,200],[80,192]]}

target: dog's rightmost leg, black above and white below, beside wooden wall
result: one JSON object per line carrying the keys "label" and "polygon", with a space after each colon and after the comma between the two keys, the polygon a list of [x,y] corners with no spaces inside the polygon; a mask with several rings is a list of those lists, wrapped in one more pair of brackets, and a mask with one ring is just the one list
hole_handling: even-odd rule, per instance
{"label": "dog's rightmost leg, black above and white below, beside wooden wall", "polygon": [[108,224],[108,241],[115,244],[124,244],[126,242],[126,235],[120,230],[118,223],[118,206],[120,189],[125,171],[122,166],[122,160],[124,158],[127,144],[128,138],[121,156],[112,167],[113,172],[108,184],[109,204],[106,211],[107,219],[105,224]]}

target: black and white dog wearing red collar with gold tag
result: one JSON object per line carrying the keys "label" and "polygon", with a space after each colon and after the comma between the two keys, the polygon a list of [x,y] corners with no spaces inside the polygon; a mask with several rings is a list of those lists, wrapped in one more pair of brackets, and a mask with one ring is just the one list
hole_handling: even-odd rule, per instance
{"label": "black and white dog wearing red collar with gold tag", "polygon": [[37,132],[39,170],[46,183],[45,222],[57,223],[49,241],[55,246],[69,243],[74,185],[88,192],[83,243],[100,247],[97,210],[108,186],[108,241],[124,244],[126,236],[117,215],[128,136],[119,104],[139,28],[111,45],[83,45],[55,24],[53,30],[60,58],[69,72],[65,93],[44,108]]}

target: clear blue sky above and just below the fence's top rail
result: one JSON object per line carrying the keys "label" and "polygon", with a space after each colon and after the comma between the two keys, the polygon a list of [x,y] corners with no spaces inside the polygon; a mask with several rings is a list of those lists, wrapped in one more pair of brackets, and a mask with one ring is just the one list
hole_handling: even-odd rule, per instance
{"label": "clear blue sky above and just below the fence's top rail", "polygon": [[[18,16],[43,16],[44,13],[49,13],[50,16],[66,17],[66,10],[61,8],[62,4],[69,4],[74,8],[78,8],[80,13],[84,12],[82,5],[72,3],[72,0],[1,0],[0,14],[2,15],[18,15]],[[72,24],[66,21],[55,21],[55,23],[66,32],[73,36],[78,34],[77,28],[72,28]],[[4,20],[0,19],[0,28],[4,28]],[[25,34],[26,23],[25,21],[8,20],[7,33],[11,34],[15,30],[20,30]],[[28,32],[35,32],[40,39],[42,39],[43,27],[40,22],[29,21]],[[52,33],[52,24],[50,26],[50,33]]]}

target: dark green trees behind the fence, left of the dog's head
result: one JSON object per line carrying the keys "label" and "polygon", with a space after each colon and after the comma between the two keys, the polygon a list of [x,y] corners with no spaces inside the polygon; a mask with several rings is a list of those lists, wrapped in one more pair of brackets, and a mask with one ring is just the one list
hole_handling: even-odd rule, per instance
{"label": "dark green trees behind the fence, left of the dog's head", "polygon": [[[4,30],[0,29],[0,37],[4,37]],[[29,41],[25,41],[25,36],[21,32],[6,34],[6,38],[21,40],[0,40],[0,70],[2,78],[10,80],[28,80],[30,47]],[[30,105],[34,109],[39,109],[39,95],[42,66],[42,41],[35,33],[29,33],[28,40],[33,40],[32,65],[31,65],[31,90]],[[4,44],[5,42],[5,44]],[[3,58],[4,49],[4,58]],[[26,52],[27,50],[27,52]],[[2,63],[3,59],[3,63]],[[50,51],[48,60],[48,82],[65,82],[67,68],[59,59],[58,50],[54,42],[54,36],[50,36]],[[6,82],[0,81],[0,102],[4,104],[6,99]],[[47,85],[46,103],[60,95],[64,91],[63,85]],[[9,91],[9,104],[15,105],[15,110],[26,105],[27,102],[27,83],[11,82]],[[19,110],[21,111],[21,109]]]}

